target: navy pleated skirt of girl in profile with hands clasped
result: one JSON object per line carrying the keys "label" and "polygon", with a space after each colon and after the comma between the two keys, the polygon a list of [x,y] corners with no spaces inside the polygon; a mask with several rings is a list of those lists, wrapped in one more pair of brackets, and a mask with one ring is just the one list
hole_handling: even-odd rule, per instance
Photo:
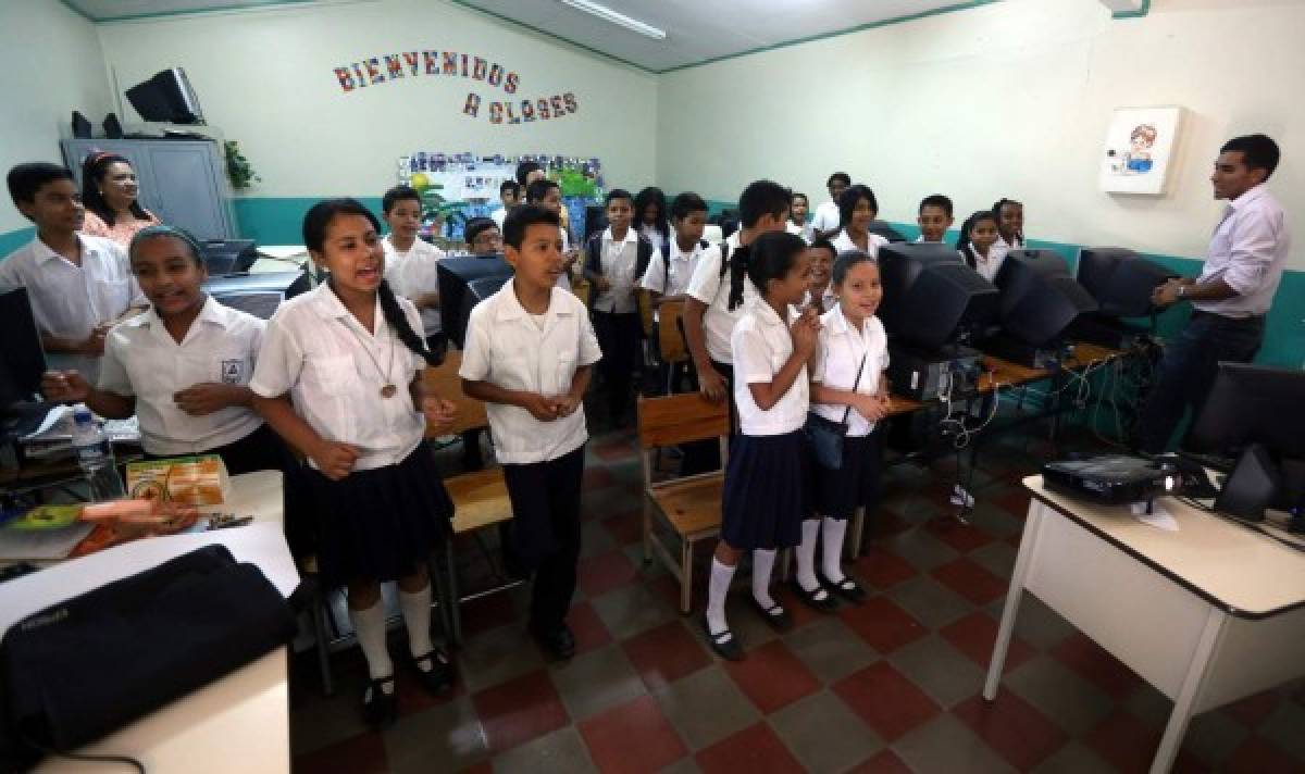
{"label": "navy pleated skirt of girl in profile with hands clasped", "polygon": [[726,466],[720,536],[732,548],[787,548],[803,539],[810,516],[806,435],[739,433]]}

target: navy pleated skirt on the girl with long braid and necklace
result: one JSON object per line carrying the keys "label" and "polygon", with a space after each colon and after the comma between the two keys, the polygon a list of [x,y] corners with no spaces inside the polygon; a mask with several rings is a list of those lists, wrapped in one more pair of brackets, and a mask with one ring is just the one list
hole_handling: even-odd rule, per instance
{"label": "navy pleated skirt on the girl with long braid and necklace", "polygon": [[408,576],[449,538],[453,501],[425,441],[398,465],[338,482],[305,471],[318,519],[317,569],[328,589]]}

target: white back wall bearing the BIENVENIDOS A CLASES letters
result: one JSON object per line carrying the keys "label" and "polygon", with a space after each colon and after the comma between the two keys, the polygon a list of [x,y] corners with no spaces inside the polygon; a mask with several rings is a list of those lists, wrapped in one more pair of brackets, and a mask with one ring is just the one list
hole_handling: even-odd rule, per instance
{"label": "white back wall bearing the BIENVENIDOS A CLASES letters", "polygon": [[[645,184],[655,171],[652,76],[446,0],[288,5],[98,29],[123,87],[185,68],[209,124],[239,140],[262,176],[251,196],[380,196],[395,181],[395,159],[414,150],[592,155],[609,184],[622,185]],[[423,74],[343,93],[333,74],[363,57],[425,48],[501,63],[519,73],[519,90]],[[487,104],[479,119],[462,115],[472,90],[485,103],[572,91],[579,110],[493,125]]]}

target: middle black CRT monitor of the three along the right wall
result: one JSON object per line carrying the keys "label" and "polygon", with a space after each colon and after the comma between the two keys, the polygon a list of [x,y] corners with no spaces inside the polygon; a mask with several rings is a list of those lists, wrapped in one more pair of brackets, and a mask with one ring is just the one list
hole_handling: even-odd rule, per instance
{"label": "middle black CRT monitor of the three along the right wall", "polygon": [[1010,251],[996,285],[1002,330],[1035,347],[1053,343],[1079,315],[1098,309],[1091,294],[1070,275],[1065,258],[1049,249]]}

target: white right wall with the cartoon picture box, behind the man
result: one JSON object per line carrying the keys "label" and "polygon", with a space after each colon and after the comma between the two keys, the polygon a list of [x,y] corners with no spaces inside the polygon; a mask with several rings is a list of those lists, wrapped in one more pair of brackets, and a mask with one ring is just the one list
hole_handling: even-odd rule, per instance
{"label": "white right wall with the cartoon picture box, behind the man", "polygon": [[[1301,0],[1152,0],[1134,20],[1098,0],[1006,0],[668,73],[658,181],[735,200],[771,176],[818,202],[847,170],[890,221],[914,222],[934,192],[958,224],[1010,196],[1034,238],[1199,257],[1223,206],[1207,180],[1219,146],[1265,132],[1305,232],[1302,29]],[[1101,193],[1111,111],[1158,104],[1188,108],[1167,193]]]}

